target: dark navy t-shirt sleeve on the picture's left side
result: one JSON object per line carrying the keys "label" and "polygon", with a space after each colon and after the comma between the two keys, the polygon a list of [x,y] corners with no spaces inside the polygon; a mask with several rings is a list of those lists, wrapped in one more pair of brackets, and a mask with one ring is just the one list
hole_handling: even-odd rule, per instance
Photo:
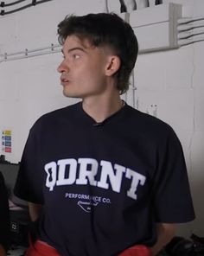
{"label": "dark navy t-shirt sleeve on the picture's left side", "polygon": [[42,204],[41,156],[36,133],[34,127],[29,131],[29,138],[22,153],[14,194],[25,201]]}

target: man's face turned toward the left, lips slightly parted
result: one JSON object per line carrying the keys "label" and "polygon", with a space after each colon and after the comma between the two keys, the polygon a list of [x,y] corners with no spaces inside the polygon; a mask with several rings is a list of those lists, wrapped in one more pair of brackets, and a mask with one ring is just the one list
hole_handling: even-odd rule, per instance
{"label": "man's face turned toward the left, lips slightly parted", "polygon": [[76,35],[67,36],[58,67],[63,93],[67,97],[85,99],[103,93],[106,86],[107,54],[103,48],[80,41]]}

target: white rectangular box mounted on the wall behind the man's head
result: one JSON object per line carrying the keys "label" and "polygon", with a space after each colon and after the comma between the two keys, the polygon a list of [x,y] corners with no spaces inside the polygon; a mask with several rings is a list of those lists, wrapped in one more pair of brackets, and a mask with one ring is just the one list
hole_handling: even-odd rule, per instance
{"label": "white rectangular box mounted on the wall behind the man's head", "polygon": [[130,24],[137,35],[139,54],[179,48],[177,20],[182,17],[182,5],[159,4],[132,11]]}

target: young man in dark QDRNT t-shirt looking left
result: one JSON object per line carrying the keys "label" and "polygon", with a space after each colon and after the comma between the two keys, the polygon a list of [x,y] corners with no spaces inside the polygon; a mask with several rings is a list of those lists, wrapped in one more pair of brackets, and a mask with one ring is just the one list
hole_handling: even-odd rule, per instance
{"label": "young man in dark QDRNT t-shirt looking left", "polygon": [[194,210],[175,132],[120,99],[137,38],[115,14],[69,16],[58,33],[63,93],[82,100],[29,132],[15,189],[36,227],[27,256],[156,255]]}

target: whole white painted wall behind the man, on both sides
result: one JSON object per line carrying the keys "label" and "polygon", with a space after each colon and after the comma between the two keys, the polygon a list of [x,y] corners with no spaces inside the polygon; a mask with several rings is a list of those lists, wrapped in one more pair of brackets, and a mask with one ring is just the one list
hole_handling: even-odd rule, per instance
{"label": "whole white painted wall behind the man, on both sides", "polygon": [[[109,10],[118,12],[118,2],[109,1]],[[202,0],[163,2],[182,3],[183,16],[204,16]],[[0,16],[0,54],[57,43],[56,27],[64,16],[103,10],[102,0],[54,0]],[[204,42],[140,54],[134,73],[136,107],[168,122],[182,141],[197,215],[193,223],[180,228],[180,234],[186,236],[192,232],[204,235],[203,55]],[[0,131],[12,131],[12,153],[5,154],[12,163],[20,161],[29,128],[36,118],[74,102],[62,96],[56,72],[60,61],[61,54],[55,53],[0,63]],[[130,90],[126,97],[130,105],[133,105],[132,95]],[[4,154],[1,149],[0,153]]]}

